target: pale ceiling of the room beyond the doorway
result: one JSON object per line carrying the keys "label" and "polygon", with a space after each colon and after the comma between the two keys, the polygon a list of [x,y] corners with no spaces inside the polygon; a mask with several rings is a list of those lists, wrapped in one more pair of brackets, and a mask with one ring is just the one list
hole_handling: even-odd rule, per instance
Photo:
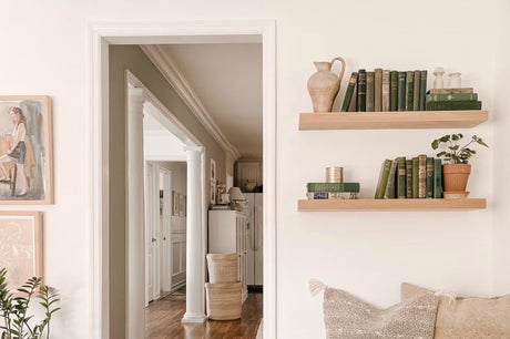
{"label": "pale ceiling of the room beyond the doorway", "polygon": [[262,43],[166,44],[162,50],[241,158],[262,158]]}

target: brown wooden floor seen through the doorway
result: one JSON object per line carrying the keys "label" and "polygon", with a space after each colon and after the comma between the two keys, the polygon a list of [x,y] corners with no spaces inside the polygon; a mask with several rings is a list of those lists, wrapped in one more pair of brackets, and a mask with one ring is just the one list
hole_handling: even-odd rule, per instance
{"label": "brown wooden floor seen through the doorway", "polygon": [[256,338],[262,319],[262,292],[249,294],[243,305],[239,320],[204,323],[181,323],[185,312],[184,298],[163,298],[153,301],[145,309],[145,338],[227,339]]}

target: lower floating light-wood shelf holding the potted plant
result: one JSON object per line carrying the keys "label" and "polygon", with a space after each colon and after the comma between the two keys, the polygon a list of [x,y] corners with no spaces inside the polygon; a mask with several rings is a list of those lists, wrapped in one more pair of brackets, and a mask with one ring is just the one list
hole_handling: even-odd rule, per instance
{"label": "lower floating light-wood shelf holding the potted plant", "polygon": [[328,199],[297,202],[298,210],[482,209],[484,198],[466,199]]}

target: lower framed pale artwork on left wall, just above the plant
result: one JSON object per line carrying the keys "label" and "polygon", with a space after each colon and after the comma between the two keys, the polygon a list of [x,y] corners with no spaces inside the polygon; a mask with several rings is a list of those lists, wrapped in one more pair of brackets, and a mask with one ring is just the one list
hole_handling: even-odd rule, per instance
{"label": "lower framed pale artwork on left wall, just above the plant", "polygon": [[42,278],[41,212],[0,212],[0,267],[7,268],[11,290]]}

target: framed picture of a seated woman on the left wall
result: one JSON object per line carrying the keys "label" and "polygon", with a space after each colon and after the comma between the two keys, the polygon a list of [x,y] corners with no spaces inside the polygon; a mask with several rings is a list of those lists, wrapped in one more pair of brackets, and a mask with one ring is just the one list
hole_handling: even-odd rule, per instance
{"label": "framed picture of a seated woman on the left wall", "polygon": [[0,96],[0,204],[53,203],[49,96]]}

